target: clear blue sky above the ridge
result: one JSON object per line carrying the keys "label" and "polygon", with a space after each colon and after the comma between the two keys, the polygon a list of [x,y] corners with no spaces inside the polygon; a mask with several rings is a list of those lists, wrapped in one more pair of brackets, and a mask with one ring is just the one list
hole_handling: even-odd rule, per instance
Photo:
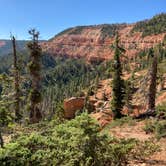
{"label": "clear blue sky above the ridge", "polygon": [[132,23],[166,12],[166,0],[0,0],[0,39],[10,32],[28,39],[37,28],[41,39],[76,25]]}

